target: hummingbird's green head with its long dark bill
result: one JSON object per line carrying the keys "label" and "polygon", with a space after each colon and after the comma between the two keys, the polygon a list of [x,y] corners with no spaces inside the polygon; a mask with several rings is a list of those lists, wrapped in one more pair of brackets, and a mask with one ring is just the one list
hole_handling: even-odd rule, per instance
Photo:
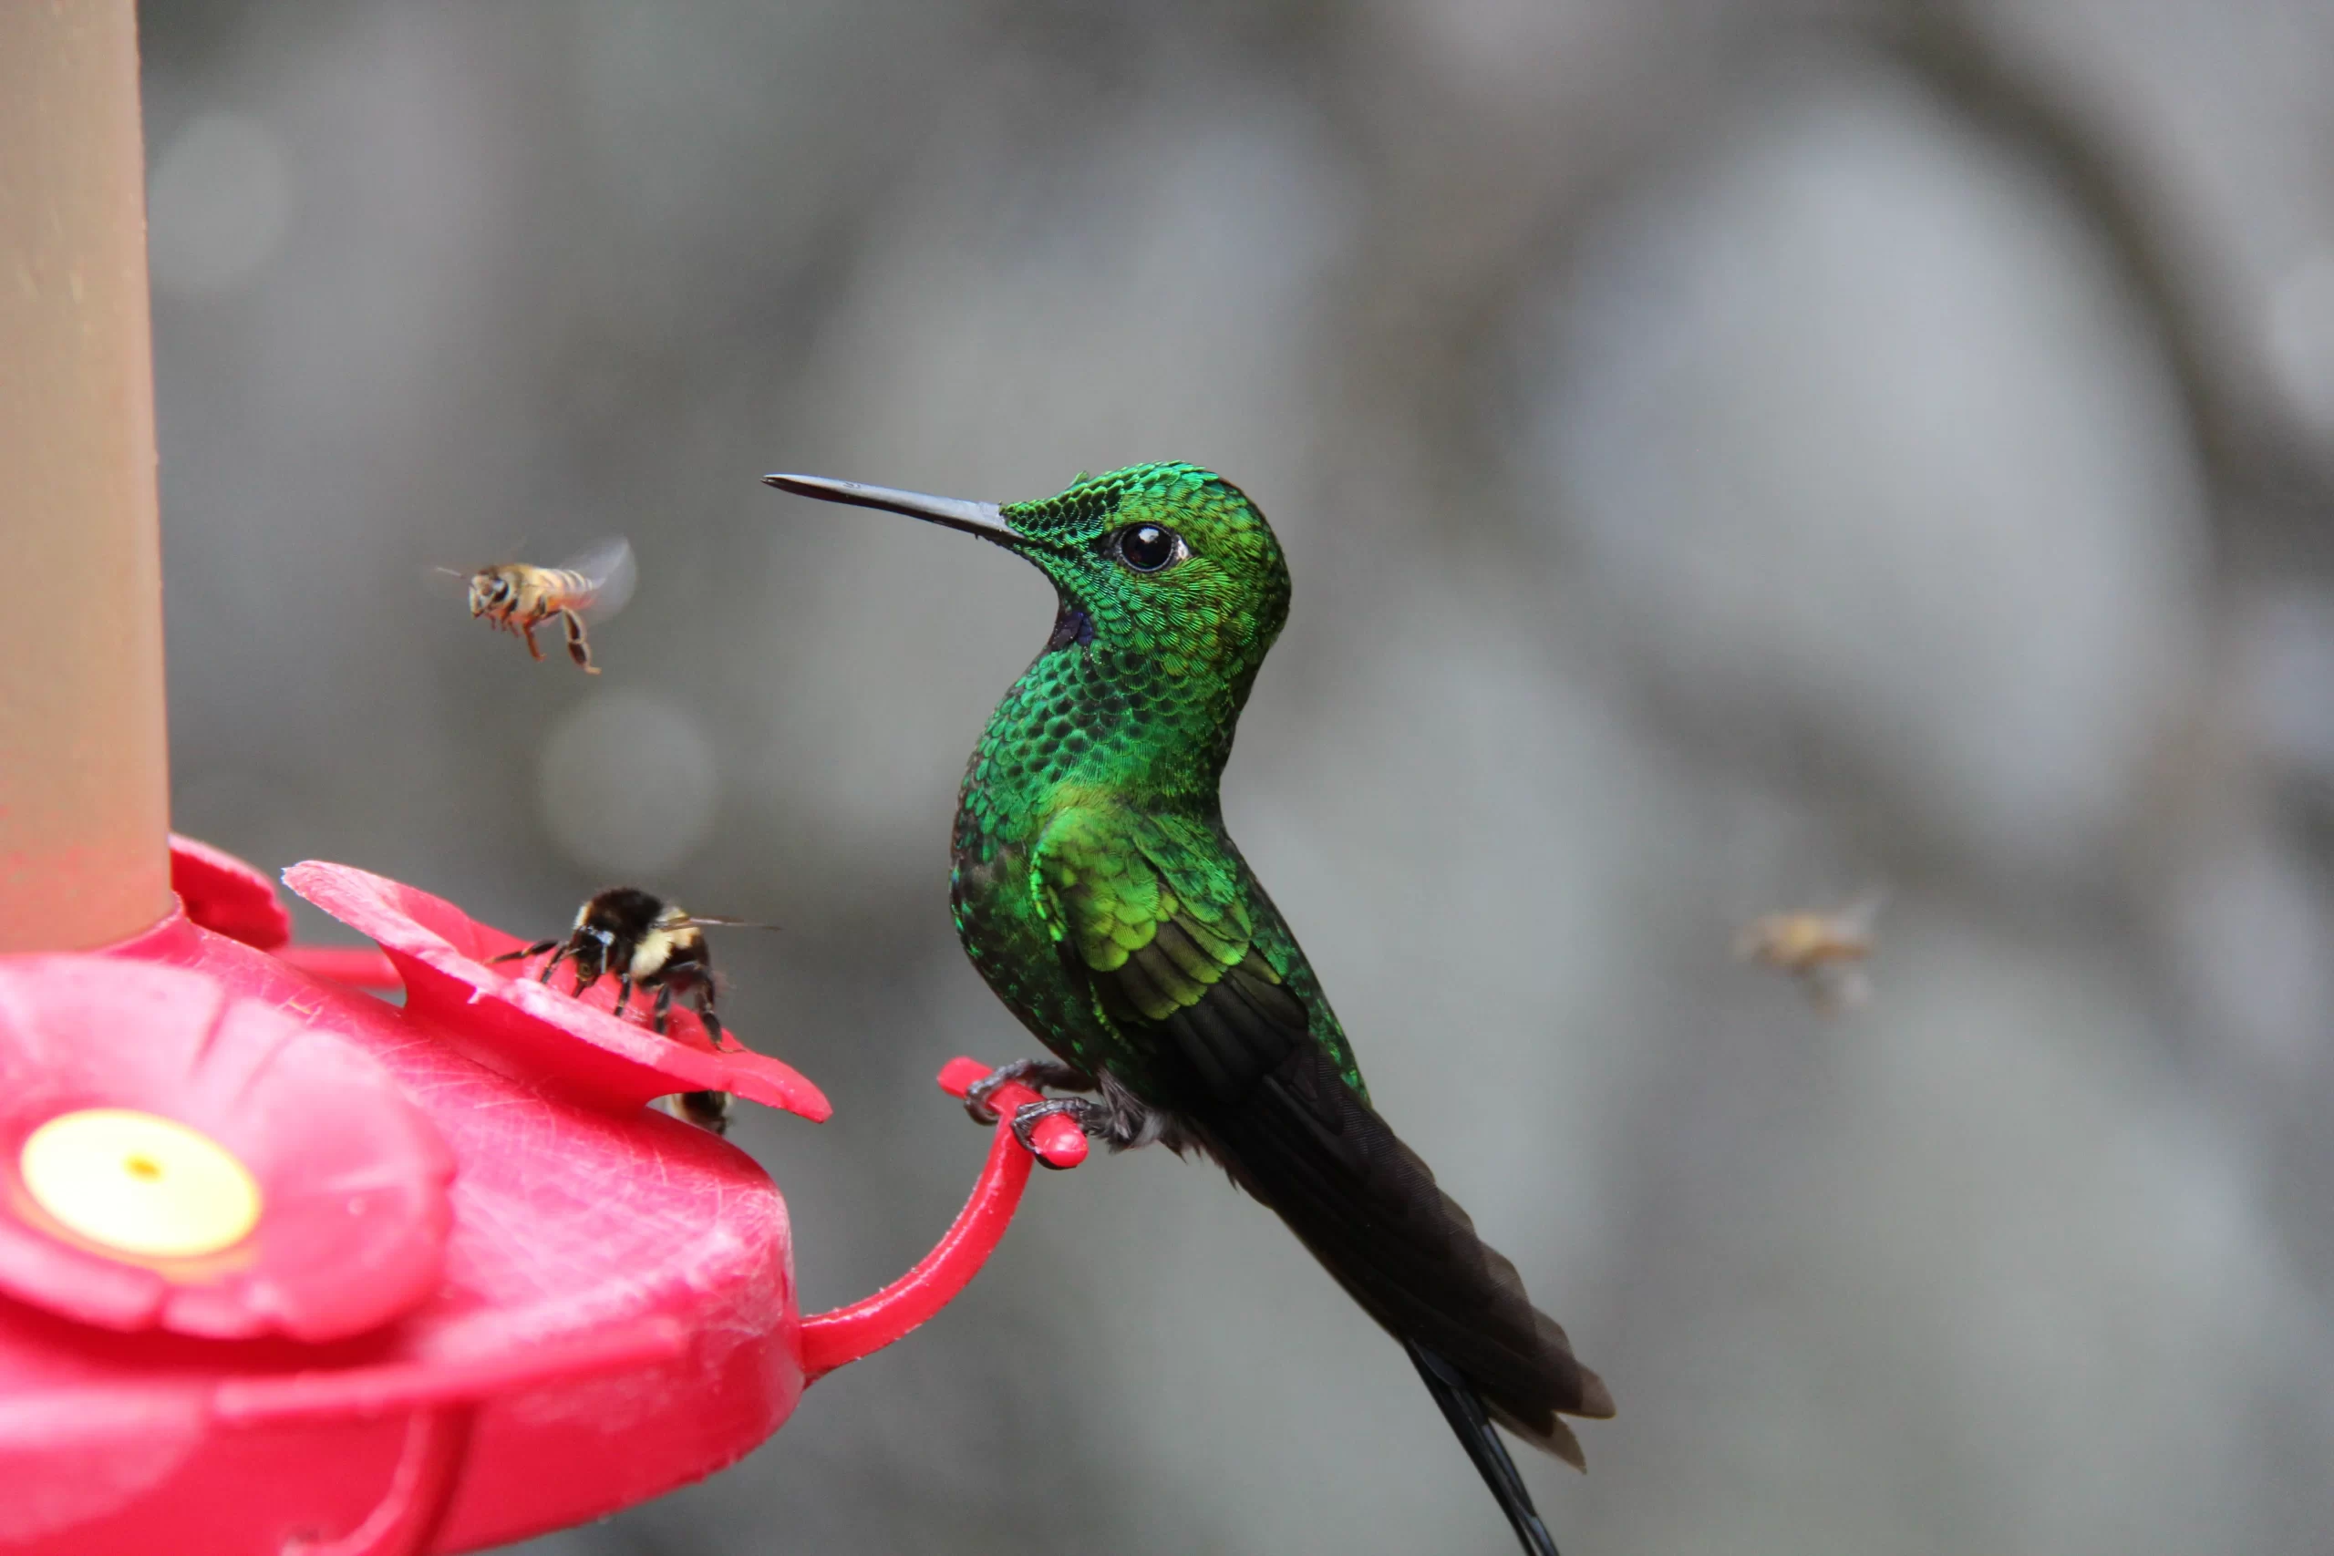
{"label": "hummingbird's green head with its long dark bill", "polygon": [[1062,597],[1048,649],[1102,644],[1244,695],[1288,618],[1288,565],[1249,497],[1197,464],[1130,464],[1064,492],[990,504],[819,476],[770,485],[966,530],[1034,562]]}

